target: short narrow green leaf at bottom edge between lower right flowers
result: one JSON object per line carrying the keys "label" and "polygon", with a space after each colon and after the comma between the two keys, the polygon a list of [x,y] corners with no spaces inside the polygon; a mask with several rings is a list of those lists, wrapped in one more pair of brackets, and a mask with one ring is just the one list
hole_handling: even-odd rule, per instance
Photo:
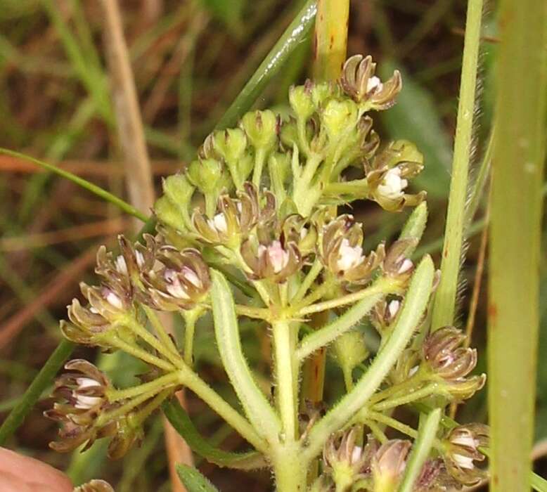
{"label": "short narrow green leaf at bottom edge between lower right flowers", "polygon": [[408,458],[408,465],[404,470],[404,478],[399,487],[399,492],[412,492],[414,490],[416,479],[425,460],[427,460],[427,456],[429,456],[433,441],[435,441],[440,420],[441,409],[436,408],[427,415],[423,422],[420,422],[418,437],[412,446],[412,452],[410,458]]}

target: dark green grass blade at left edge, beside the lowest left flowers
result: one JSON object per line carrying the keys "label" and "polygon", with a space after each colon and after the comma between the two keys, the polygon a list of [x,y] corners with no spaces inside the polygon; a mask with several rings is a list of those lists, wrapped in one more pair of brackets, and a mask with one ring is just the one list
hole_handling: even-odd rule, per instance
{"label": "dark green grass blade at left edge, beside the lowest left flowers", "polygon": [[53,377],[58,373],[63,363],[72,354],[74,344],[68,340],[60,342],[58,347],[53,351],[53,354],[41,368],[40,372],[25,391],[21,401],[11,410],[6,420],[0,427],[0,446],[2,446],[8,437],[10,437],[15,430],[22,424],[25,417],[28,415],[34,403],[36,403],[40,395],[44,392],[44,389],[48,387],[53,380]]}

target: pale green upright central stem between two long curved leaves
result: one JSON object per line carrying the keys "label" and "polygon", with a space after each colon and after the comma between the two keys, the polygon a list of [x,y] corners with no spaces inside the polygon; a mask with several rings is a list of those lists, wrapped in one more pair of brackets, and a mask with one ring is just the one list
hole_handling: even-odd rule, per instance
{"label": "pale green upright central stem between two long curved leaves", "polygon": [[274,321],[271,328],[274,337],[276,396],[283,425],[283,441],[295,441],[298,409],[295,328],[291,327],[287,321]]}

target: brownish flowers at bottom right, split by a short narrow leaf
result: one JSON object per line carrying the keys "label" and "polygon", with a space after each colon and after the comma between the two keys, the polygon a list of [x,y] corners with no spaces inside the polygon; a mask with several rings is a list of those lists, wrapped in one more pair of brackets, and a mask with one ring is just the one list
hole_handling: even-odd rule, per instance
{"label": "brownish flowers at bottom right, split by a short narrow leaf", "polygon": [[[361,436],[361,437],[359,437]],[[363,429],[352,427],[334,434],[323,449],[323,474],[317,490],[323,492],[396,491],[404,477],[412,443],[389,439],[380,443]],[[455,427],[439,439],[435,453],[423,462],[414,486],[415,492],[460,490],[477,484],[486,474],[475,465],[484,460],[488,447],[488,428],[484,425]]]}

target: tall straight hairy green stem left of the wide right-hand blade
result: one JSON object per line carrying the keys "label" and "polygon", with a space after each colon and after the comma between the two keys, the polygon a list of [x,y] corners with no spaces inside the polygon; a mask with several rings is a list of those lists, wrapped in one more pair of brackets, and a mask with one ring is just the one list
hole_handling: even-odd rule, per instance
{"label": "tall straight hairy green stem left of the wide right-hand blade", "polygon": [[454,140],[454,157],[450,183],[449,207],[441,263],[441,281],[435,294],[432,330],[451,325],[456,311],[458,276],[461,266],[465,201],[468,192],[468,169],[472,152],[473,115],[477,86],[482,0],[468,2],[461,72],[460,101]]}

